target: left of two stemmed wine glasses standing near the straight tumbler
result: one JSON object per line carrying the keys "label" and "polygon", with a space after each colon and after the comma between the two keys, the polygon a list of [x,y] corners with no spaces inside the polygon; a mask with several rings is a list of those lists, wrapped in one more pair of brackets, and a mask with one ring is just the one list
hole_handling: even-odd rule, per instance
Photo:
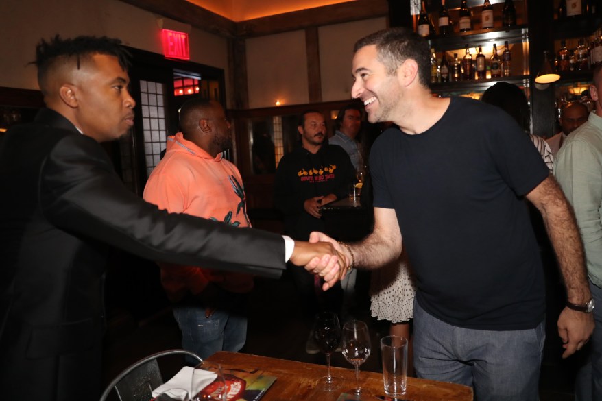
{"label": "left of two stemmed wine glasses standing near the straight tumbler", "polygon": [[330,374],[330,355],[339,346],[341,341],[341,325],[336,313],[321,312],[315,315],[313,325],[313,338],[317,348],[326,354],[326,376],[320,379],[325,391],[333,391],[341,385],[341,379]]}

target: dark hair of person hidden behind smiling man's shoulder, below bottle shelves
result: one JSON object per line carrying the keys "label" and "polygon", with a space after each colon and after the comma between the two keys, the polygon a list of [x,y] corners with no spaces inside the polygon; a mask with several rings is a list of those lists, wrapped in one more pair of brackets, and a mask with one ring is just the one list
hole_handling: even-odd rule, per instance
{"label": "dark hair of person hidden behind smiling man's shoulder, below bottle shelves", "polygon": [[531,131],[529,101],[525,92],[518,86],[503,81],[497,82],[485,90],[481,101],[498,106],[510,114],[525,132]]}

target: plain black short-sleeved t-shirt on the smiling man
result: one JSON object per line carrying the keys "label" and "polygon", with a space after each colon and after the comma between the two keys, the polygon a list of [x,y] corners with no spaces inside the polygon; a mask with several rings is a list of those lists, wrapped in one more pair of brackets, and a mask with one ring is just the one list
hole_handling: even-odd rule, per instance
{"label": "plain black short-sleeved t-shirt on the smiling man", "polygon": [[521,197],[549,171],[511,117],[452,98],[421,134],[383,132],[370,166],[374,206],[396,211],[422,308],[479,330],[542,321],[542,265]]}

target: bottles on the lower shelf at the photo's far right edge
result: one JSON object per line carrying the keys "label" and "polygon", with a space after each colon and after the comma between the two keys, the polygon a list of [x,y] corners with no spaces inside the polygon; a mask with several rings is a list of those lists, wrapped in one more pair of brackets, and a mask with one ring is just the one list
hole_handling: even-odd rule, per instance
{"label": "bottles on the lower shelf at the photo's far right edge", "polygon": [[590,71],[602,63],[602,29],[597,29],[589,38],[578,38],[574,48],[567,47],[566,40],[561,40],[555,56],[554,66],[559,73]]}

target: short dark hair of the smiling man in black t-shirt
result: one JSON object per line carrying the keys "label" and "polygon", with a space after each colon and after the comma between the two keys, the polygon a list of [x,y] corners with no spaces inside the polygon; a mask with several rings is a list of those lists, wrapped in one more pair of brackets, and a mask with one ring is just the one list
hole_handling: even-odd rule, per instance
{"label": "short dark hair of the smiling man in black t-shirt", "polygon": [[428,87],[431,80],[431,50],[429,43],[412,29],[396,27],[383,29],[361,38],[353,52],[365,46],[376,45],[378,60],[385,64],[387,73],[393,75],[398,67],[411,58],[418,64],[418,78]]}

